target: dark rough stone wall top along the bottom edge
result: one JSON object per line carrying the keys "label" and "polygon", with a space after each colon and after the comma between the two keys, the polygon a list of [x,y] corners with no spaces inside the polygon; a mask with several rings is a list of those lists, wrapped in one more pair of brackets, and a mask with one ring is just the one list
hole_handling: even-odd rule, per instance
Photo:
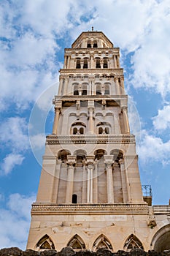
{"label": "dark rough stone wall top along the bottom edge", "polygon": [[131,252],[117,251],[110,252],[108,249],[98,249],[97,252],[90,250],[82,250],[74,252],[71,247],[65,247],[61,252],[56,250],[46,250],[43,252],[36,252],[31,249],[22,251],[17,247],[0,249],[0,256],[170,256],[170,250],[163,252],[155,252],[154,250],[144,252],[142,249],[131,249]]}

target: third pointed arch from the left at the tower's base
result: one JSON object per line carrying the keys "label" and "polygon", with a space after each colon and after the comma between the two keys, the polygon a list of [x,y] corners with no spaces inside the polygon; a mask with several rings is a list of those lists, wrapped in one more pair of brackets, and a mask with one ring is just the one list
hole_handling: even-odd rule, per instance
{"label": "third pointed arch from the left at the tower's base", "polygon": [[98,236],[98,238],[96,238],[96,240],[93,243],[93,248],[92,251],[96,252],[98,249],[109,249],[110,251],[113,252],[113,248],[112,248],[112,244],[110,243],[109,239],[104,236],[104,234],[101,234],[100,236]]}

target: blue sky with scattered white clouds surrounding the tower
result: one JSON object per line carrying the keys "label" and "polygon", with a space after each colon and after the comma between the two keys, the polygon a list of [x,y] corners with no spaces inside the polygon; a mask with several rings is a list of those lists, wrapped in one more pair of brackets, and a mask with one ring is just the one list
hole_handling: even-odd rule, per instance
{"label": "blue sky with scattered white clouds surrounding the tower", "polygon": [[26,248],[63,48],[91,26],[120,47],[142,184],[169,203],[169,24],[169,0],[0,1],[0,248]]}

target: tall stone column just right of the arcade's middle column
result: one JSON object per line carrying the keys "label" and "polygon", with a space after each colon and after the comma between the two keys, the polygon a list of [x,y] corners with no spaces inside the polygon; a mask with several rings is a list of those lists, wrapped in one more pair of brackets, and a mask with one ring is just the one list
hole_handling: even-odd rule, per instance
{"label": "tall stone column just right of the arcade's middle column", "polygon": [[113,173],[112,164],[113,156],[104,156],[104,163],[107,167],[107,203],[114,203],[114,191],[113,191]]}

